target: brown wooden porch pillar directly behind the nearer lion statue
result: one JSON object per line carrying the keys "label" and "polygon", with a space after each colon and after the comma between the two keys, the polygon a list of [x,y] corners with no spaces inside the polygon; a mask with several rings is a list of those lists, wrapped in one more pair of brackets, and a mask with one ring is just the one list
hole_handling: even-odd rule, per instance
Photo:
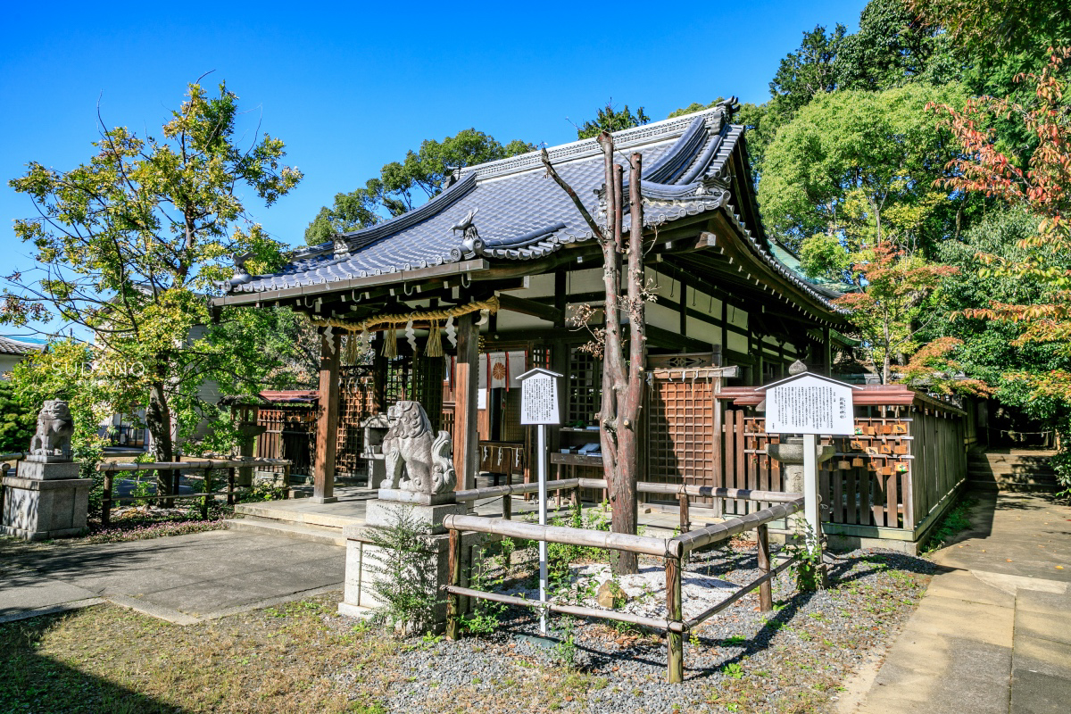
{"label": "brown wooden porch pillar directly behind the nearer lion statue", "polygon": [[477,391],[480,389],[480,330],[477,313],[457,318],[457,374],[454,384],[454,469],[457,490],[476,488],[479,457]]}

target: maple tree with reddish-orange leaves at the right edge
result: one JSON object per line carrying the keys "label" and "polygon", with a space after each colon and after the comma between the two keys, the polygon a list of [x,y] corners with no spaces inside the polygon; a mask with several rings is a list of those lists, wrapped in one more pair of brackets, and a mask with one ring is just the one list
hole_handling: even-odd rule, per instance
{"label": "maple tree with reddish-orange leaves at the right edge", "polygon": [[[968,308],[968,318],[1015,323],[1021,328],[1015,345],[1047,343],[1071,353],[1071,115],[1065,100],[1066,62],[1071,48],[1050,49],[1049,62],[1038,73],[1022,73],[1016,81],[1034,86],[1032,101],[982,96],[968,100],[962,109],[930,105],[947,115],[944,123],[962,145],[963,154],[949,163],[953,173],[941,181],[948,187],[984,194],[1038,216],[1037,230],[1017,243],[1016,257],[981,253],[980,274],[1030,279],[1046,288],[1044,300],[1031,304],[991,302]],[[993,125],[1013,119],[1034,137],[1036,146],[1026,165],[1001,150]],[[1071,371],[1045,374],[1012,370],[1009,379],[1028,382],[1037,396],[1071,400]]]}

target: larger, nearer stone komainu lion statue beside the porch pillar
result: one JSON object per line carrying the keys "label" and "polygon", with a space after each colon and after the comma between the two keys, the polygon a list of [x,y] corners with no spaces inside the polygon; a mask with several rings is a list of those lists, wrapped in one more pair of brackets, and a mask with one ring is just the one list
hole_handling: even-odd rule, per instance
{"label": "larger, nearer stone komainu lion statue beside the porch pillar", "polygon": [[457,483],[449,431],[433,436],[432,422],[419,401],[398,401],[387,410],[383,437],[387,478],[380,488],[444,493]]}

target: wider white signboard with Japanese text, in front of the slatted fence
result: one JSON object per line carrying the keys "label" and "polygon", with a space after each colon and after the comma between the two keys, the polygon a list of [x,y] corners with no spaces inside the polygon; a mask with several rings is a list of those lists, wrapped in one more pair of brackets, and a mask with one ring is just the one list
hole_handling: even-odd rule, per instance
{"label": "wider white signboard with Japanese text, in front of the slatted fence", "polygon": [[815,375],[800,375],[766,389],[767,434],[856,432],[853,386]]}

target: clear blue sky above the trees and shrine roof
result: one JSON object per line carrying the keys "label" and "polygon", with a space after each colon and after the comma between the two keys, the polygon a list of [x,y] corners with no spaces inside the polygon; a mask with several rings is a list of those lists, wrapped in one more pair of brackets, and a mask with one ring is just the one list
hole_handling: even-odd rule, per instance
{"label": "clear blue sky above the trees and shrine roof", "polygon": [[30,265],[10,222],[33,213],[7,180],[31,159],[88,159],[99,98],[107,125],[159,135],[186,83],[214,70],[247,128],[262,121],[305,173],[271,209],[247,202],[297,245],[334,194],[425,138],[474,126],[553,146],[609,97],[653,119],[719,95],[765,102],[803,30],[851,31],[864,4],[12,3],[0,22],[2,272]]}

